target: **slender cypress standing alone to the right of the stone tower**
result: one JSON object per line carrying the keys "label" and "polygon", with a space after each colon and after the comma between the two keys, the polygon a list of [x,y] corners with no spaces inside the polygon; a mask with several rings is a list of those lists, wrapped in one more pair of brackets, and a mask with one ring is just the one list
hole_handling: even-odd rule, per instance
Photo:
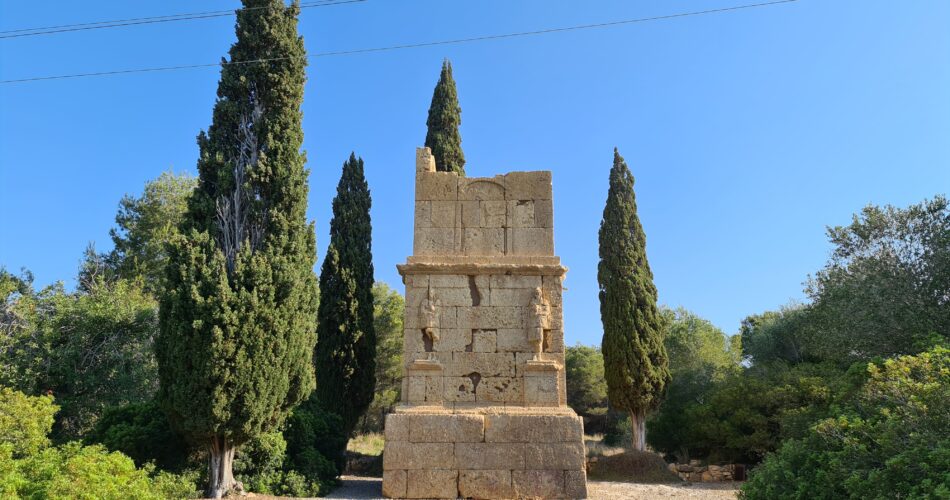
{"label": "slender cypress standing alone to the right of the stone tower", "polygon": [[627,163],[615,148],[600,223],[597,282],[607,399],[613,408],[630,414],[633,448],[643,450],[647,414],[659,406],[670,371],[633,183]]}

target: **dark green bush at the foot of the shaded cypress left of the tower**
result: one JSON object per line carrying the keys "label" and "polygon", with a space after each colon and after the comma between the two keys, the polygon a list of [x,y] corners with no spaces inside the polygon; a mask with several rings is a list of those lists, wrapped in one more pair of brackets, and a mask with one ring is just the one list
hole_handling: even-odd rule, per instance
{"label": "dark green bush at the foot of the shaded cypress left of the tower", "polygon": [[289,469],[305,477],[330,484],[345,465],[341,449],[346,449],[343,420],[313,399],[300,405],[287,421]]}

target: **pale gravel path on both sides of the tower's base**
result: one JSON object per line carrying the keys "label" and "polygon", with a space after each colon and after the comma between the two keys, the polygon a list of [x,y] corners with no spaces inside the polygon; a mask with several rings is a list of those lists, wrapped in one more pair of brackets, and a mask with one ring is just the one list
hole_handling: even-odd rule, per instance
{"label": "pale gravel path on both sides of the tower's base", "polygon": [[[326,498],[366,500],[382,498],[382,480],[376,477],[343,476],[343,486]],[[730,483],[705,483],[689,486],[679,484],[633,484],[606,481],[587,482],[589,498],[652,499],[652,498],[736,498],[736,486]]]}

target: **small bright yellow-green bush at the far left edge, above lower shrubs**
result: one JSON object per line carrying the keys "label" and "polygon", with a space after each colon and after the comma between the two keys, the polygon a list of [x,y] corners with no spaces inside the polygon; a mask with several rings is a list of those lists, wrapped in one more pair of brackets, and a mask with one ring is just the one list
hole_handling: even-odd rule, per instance
{"label": "small bright yellow-green bush at the far left edge, above lower shrubs", "polygon": [[6,446],[11,457],[32,455],[46,448],[46,436],[57,410],[51,396],[27,396],[0,386],[0,446]]}

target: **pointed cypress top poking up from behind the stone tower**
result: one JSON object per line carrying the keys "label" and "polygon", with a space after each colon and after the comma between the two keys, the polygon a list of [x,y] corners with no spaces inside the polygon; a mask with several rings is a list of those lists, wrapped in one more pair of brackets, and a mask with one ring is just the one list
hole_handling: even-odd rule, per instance
{"label": "pointed cypress top poking up from behind the stone tower", "polygon": [[426,120],[425,145],[432,150],[435,168],[439,172],[456,172],[465,176],[465,153],[462,152],[462,136],[459,134],[461,124],[462,108],[452,78],[452,63],[446,59],[442,62],[442,74],[432,93],[429,119]]}

